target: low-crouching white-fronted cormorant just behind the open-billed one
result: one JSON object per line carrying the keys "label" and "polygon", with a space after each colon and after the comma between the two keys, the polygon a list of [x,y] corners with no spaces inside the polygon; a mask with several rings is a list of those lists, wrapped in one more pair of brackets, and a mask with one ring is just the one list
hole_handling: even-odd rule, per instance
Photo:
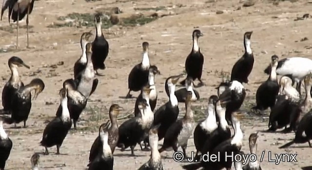
{"label": "low-crouching white-fronted cormorant just behind the open-billed one", "polygon": [[[193,78],[188,76],[185,80],[185,87],[176,90],[175,95],[178,102],[185,102],[186,94],[188,91],[192,92],[192,101],[199,100],[199,93],[193,88]],[[169,90],[165,88],[166,93],[169,97]]]}

